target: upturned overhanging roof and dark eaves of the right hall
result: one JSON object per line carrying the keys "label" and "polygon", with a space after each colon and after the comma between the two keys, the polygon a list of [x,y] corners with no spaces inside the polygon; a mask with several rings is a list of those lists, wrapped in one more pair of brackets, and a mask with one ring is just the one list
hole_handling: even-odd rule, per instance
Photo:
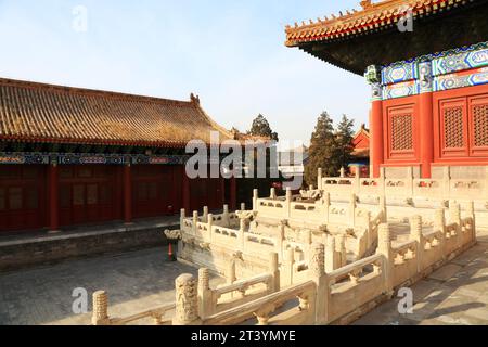
{"label": "upturned overhanging roof and dark eaves of the right hall", "polygon": [[[387,65],[486,41],[487,2],[365,0],[360,2],[360,10],[286,26],[285,44],[362,75],[369,65]],[[401,33],[397,27],[407,10],[413,16],[412,33]]]}

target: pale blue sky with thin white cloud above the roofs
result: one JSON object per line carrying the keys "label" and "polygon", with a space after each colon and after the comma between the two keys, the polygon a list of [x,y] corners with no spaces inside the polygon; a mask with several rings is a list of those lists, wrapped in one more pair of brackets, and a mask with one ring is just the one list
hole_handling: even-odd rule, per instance
{"label": "pale blue sky with thin white cloud above the roofs", "polygon": [[[169,99],[200,95],[227,128],[262,113],[282,140],[318,115],[367,123],[365,80],[284,46],[284,26],[359,0],[0,0],[0,76]],[[73,24],[88,10],[86,31]]]}

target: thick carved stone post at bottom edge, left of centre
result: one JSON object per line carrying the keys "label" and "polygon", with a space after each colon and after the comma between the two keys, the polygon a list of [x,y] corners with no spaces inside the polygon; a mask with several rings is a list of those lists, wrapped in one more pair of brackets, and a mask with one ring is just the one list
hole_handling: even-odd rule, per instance
{"label": "thick carved stone post at bottom edge, left of centre", "polygon": [[198,290],[192,274],[184,273],[175,281],[176,314],[172,325],[201,325],[198,317]]}

